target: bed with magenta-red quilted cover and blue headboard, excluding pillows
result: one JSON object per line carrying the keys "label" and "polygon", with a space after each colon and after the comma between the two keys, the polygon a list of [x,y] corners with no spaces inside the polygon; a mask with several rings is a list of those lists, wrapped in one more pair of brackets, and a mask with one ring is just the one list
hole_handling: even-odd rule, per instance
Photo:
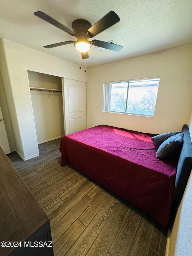
{"label": "bed with magenta-red quilted cover and blue headboard, excluding pillows", "polygon": [[181,154],[158,159],[155,134],[98,125],[61,139],[61,166],[70,164],[167,227],[192,167],[187,125],[182,132]]}

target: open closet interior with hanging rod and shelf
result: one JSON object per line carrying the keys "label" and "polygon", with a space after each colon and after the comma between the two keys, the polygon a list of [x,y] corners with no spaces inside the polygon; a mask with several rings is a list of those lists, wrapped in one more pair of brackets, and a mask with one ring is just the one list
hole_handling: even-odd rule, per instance
{"label": "open closet interior with hanging rod and shelf", "polygon": [[61,77],[27,71],[38,144],[64,136]]}

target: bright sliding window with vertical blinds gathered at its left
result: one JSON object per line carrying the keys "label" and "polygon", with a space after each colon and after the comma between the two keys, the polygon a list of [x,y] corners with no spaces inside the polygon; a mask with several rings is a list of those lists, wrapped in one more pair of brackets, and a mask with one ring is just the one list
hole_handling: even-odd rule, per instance
{"label": "bright sliding window with vertical blinds gathered at its left", "polygon": [[159,80],[104,83],[103,111],[153,117]]}

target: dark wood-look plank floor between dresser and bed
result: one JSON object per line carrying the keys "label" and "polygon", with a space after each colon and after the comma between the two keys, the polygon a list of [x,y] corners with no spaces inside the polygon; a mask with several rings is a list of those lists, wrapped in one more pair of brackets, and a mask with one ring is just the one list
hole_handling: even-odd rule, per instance
{"label": "dark wood-look plank floor between dresser and bed", "polygon": [[40,144],[40,156],[28,161],[8,155],[50,219],[55,256],[164,256],[167,230],[71,166],[61,167],[59,144]]}

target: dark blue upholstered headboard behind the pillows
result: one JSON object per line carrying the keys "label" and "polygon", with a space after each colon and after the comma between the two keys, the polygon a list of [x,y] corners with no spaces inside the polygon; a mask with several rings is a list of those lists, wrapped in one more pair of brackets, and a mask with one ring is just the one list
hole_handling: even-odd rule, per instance
{"label": "dark blue upholstered headboard behind the pillows", "polygon": [[173,199],[178,203],[182,200],[184,190],[192,169],[192,144],[189,128],[187,125],[183,125],[182,132],[184,133],[183,146],[177,165],[175,190],[173,194]]}

